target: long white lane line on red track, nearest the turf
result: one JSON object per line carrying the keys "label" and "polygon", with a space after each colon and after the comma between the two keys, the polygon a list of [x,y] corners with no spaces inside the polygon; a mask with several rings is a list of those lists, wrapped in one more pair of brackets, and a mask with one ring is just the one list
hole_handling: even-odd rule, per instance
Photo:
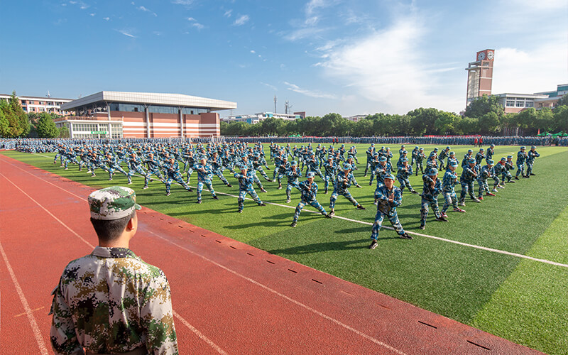
{"label": "long white lane line on red track, nearest the turf", "polygon": [[365,334],[365,333],[363,333],[363,332],[360,332],[359,330],[357,330],[357,329],[355,329],[355,328],[353,328],[353,327],[349,327],[349,325],[347,325],[347,324],[345,324],[345,323],[343,323],[343,322],[340,322],[339,320],[336,320],[336,319],[333,318],[333,317],[329,317],[329,315],[324,315],[324,313],[322,313],[322,312],[320,312],[320,311],[318,311],[318,310],[315,310],[314,308],[312,308],[312,307],[310,307],[310,306],[308,306],[308,305],[305,305],[305,304],[303,304],[303,303],[300,302],[300,301],[294,300],[293,298],[288,297],[287,295],[284,295],[283,293],[279,293],[277,290],[273,290],[272,288],[269,288],[267,285],[264,285],[263,283],[259,283],[258,281],[253,280],[252,278],[249,278],[249,277],[247,277],[247,276],[245,276],[245,275],[243,275],[243,274],[241,274],[241,273],[239,273],[239,272],[237,272],[237,271],[234,271],[234,270],[232,270],[231,268],[227,268],[226,266],[224,266],[224,265],[222,265],[222,264],[220,264],[220,263],[217,263],[216,261],[213,261],[213,260],[207,258],[206,256],[202,256],[201,254],[196,253],[195,251],[191,251],[190,249],[185,248],[185,246],[182,246],[182,245],[180,245],[180,244],[177,244],[177,243],[175,243],[174,241],[170,241],[170,240],[168,240],[168,239],[165,239],[163,236],[160,236],[159,234],[155,234],[153,231],[148,231],[148,233],[151,233],[151,234],[157,236],[158,238],[160,238],[160,239],[162,239],[162,240],[164,240],[164,241],[167,241],[168,243],[173,244],[174,246],[177,246],[177,247],[180,248],[180,249],[183,249],[183,250],[187,251],[188,253],[192,253],[193,255],[198,256],[198,257],[202,258],[204,261],[208,261],[209,263],[212,263],[214,266],[218,266],[219,268],[222,268],[222,269],[225,270],[225,271],[229,271],[229,273],[232,273],[232,274],[238,276],[239,278],[243,278],[244,280],[247,280],[247,281],[249,281],[250,283],[253,283],[254,285],[257,285],[258,287],[261,287],[261,288],[263,288],[264,290],[267,290],[268,292],[277,295],[278,297],[282,297],[282,298],[284,298],[285,300],[288,300],[288,301],[294,303],[295,305],[298,305],[298,306],[304,308],[305,310],[309,310],[310,312],[313,312],[313,313],[315,313],[316,315],[319,315],[320,317],[322,317],[322,318],[324,318],[324,319],[326,319],[326,320],[329,320],[329,321],[331,321],[331,322],[333,322],[333,323],[335,323],[335,324],[337,324],[337,325],[339,325],[339,326],[341,326],[341,327],[344,327],[345,329],[347,329],[347,330],[349,330],[349,331],[351,331],[351,332],[354,332],[355,334],[359,335],[360,337],[364,337],[365,339],[368,339],[368,340],[370,340],[371,342],[373,342],[373,343],[375,343],[375,344],[378,344],[378,345],[380,345],[380,346],[385,347],[386,349],[389,349],[389,350],[391,350],[391,351],[394,351],[396,354],[405,354],[405,353],[403,353],[403,351],[400,351],[400,350],[398,350],[398,349],[395,349],[395,348],[393,348],[392,346],[390,346],[390,345],[388,345],[388,344],[385,344],[385,343],[381,342],[380,340],[375,339],[375,338],[373,338],[373,337],[371,337],[371,336],[369,336],[369,335],[367,335],[367,334]]}

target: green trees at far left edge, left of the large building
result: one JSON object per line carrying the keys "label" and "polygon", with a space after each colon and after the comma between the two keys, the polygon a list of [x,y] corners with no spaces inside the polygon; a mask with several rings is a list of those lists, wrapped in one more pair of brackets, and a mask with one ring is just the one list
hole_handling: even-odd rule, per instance
{"label": "green trees at far left edge, left of the large building", "polygon": [[59,117],[48,112],[26,114],[16,92],[12,92],[8,100],[0,100],[0,137],[67,138],[67,127],[58,129],[55,126],[54,120]]}

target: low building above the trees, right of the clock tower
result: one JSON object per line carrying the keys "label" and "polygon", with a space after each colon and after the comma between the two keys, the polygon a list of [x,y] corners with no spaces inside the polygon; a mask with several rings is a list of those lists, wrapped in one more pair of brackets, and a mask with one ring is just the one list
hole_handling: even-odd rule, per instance
{"label": "low building above the trees, right of the clock tower", "polygon": [[555,91],[535,92],[535,94],[496,94],[499,103],[505,108],[506,114],[513,114],[534,107],[543,109],[554,108],[560,97],[568,94],[568,84],[559,84]]}

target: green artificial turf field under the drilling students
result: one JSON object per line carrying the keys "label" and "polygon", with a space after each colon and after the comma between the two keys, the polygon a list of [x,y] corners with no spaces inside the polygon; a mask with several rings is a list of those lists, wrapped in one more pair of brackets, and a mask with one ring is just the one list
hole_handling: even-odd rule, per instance
{"label": "green artificial turf field under the drilling students", "polygon": [[[372,223],[376,213],[376,207],[372,204],[376,184],[373,182],[373,186],[369,186],[368,177],[363,177],[367,147],[357,146],[361,170],[354,172],[363,188],[350,189],[356,200],[367,209],[354,209],[342,196],[339,196],[335,209],[339,216]],[[432,147],[425,146],[425,153],[430,153]],[[395,155],[393,163],[398,160],[398,148],[391,146]],[[468,148],[471,147],[452,147],[460,162]],[[568,263],[567,253],[562,252],[566,249],[564,239],[558,237],[560,232],[557,229],[551,229],[552,221],[568,205],[568,149],[540,147],[537,150],[541,156],[535,162],[536,176],[508,184],[506,189],[497,192],[496,197],[486,197],[480,204],[469,202],[468,197],[464,207],[466,213],[449,212],[447,223],[435,222],[430,212],[425,231],[417,228],[420,223],[420,197],[404,192],[403,205],[398,208],[400,222],[408,231]],[[268,146],[265,146],[265,151],[268,155]],[[498,160],[508,154],[516,156],[518,147],[497,147],[495,151],[493,158]],[[126,184],[124,175],[117,174],[109,182],[108,174],[102,170],[96,170],[97,177],[90,178],[85,171],[78,172],[76,165],[70,165],[70,170],[62,170],[59,164],[52,164],[53,158],[17,152],[4,154],[93,187]],[[45,155],[53,157],[54,154]],[[235,182],[228,170],[225,173],[229,182]],[[266,173],[272,178],[273,170]],[[461,168],[458,169],[458,175],[460,173]],[[268,190],[268,193],[260,193],[255,185],[261,199],[285,204],[285,191],[276,190],[275,182],[266,182],[257,175]],[[195,186],[196,180],[194,174],[190,185]],[[309,206],[300,215],[298,226],[291,229],[293,207],[299,200],[297,190],[293,190],[293,200],[288,204],[292,208],[275,205],[258,207],[247,200],[244,213],[239,214],[236,213],[235,197],[219,195],[220,200],[214,201],[209,192],[204,191],[203,204],[195,204],[195,192],[186,192],[180,186],[173,185],[172,195],[166,197],[165,188],[159,181],[151,182],[148,190],[142,190],[142,178],[134,177],[133,182],[130,186],[136,190],[138,202],[148,208],[534,349],[551,354],[562,354],[566,349],[565,341],[550,338],[557,337],[559,333],[540,332],[542,324],[554,322],[557,329],[564,332],[564,339],[567,338],[568,317],[552,317],[553,314],[567,315],[566,268],[422,236],[407,241],[399,239],[394,231],[388,229],[381,230],[378,248],[371,251],[366,248],[370,243],[371,226],[342,219],[325,219],[320,214],[307,212],[314,210]],[[323,194],[324,183],[320,178],[316,178],[316,182],[320,186],[318,200],[329,209],[330,194]],[[420,175],[413,176],[410,182],[416,190],[422,190]],[[489,180],[491,188],[492,183]],[[285,179],[283,185],[285,187]],[[218,178],[214,178],[214,189],[238,195],[236,185],[224,187]],[[458,197],[459,190],[461,188],[457,186]],[[443,197],[439,201],[441,207]],[[388,221],[385,225],[390,226]],[[530,271],[531,278],[521,275],[514,279],[521,268]],[[542,277],[541,272],[547,277]],[[550,275],[556,274],[560,275],[559,278],[551,279]],[[550,302],[546,302],[546,299],[533,302],[532,307],[535,308],[531,312],[540,313],[542,317],[526,317],[523,313],[525,303],[515,297],[508,301],[510,310],[502,311],[492,306],[494,303],[501,304],[503,298],[508,300],[508,293],[532,295],[537,287],[530,280],[536,285],[551,288],[550,293],[555,295]],[[500,315],[502,321],[492,325],[495,312],[503,313]],[[532,330],[517,332],[518,329]]]}

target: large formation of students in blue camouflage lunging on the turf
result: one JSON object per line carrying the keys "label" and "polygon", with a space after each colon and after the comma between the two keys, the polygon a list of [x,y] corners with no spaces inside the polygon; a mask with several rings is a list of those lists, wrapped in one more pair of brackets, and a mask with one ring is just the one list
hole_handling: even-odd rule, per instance
{"label": "large formation of students in blue camouflage lunging on the turf", "polygon": [[[447,211],[452,206],[454,212],[465,212],[461,207],[465,206],[466,197],[471,201],[481,202],[484,196],[495,196],[498,189],[505,188],[507,183],[513,183],[522,178],[530,178],[535,175],[532,165],[539,153],[536,147],[530,150],[523,146],[517,153],[516,161],[508,155],[495,163],[493,160],[494,145],[485,150],[479,148],[469,151],[461,160],[462,172],[457,175],[460,163],[455,153],[447,146],[442,151],[438,148],[427,155],[423,148],[415,146],[410,152],[410,157],[405,146],[398,150],[398,159],[394,162],[393,153],[388,147],[377,148],[374,143],[366,150],[366,164],[364,177],[369,177],[369,185],[376,180],[374,200],[377,206],[375,222],[371,231],[371,249],[377,246],[378,232],[381,229],[383,219],[386,217],[393,228],[403,239],[413,239],[400,225],[396,208],[402,204],[402,196],[405,189],[411,194],[420,195],[420,229],[425,229],[427,216],[430,209],[435,214],[435,220],[447,222]],[[178,182],[185,190],[192,192],[190,180],[193,173],[197,173],[197,199],[195,202],[202,203],[202,191],[207,187],[212,199],[219,200],[213,187],[213,178],[217,176],[227,187],[232,187],[229,180],[224,176],[224,171],[229,170],[231,175],[239,182],[239,213],[244,211],[246,195],[259,206],[266,204],[258,196],[254,185],[260,192],[266,192],[261,179],[270,182],[278,182],[278,190],[283,189],[283,178],[286,178],[285,195],[286,202],[292,200],[293,190],[300,193],[300,202],[297,204],[291,226],[297,225],[300,212],[305,205],[317,209],[324,217],[332,218],[335,214],[335,204],[341,195],[346,198],[356,209],[365,209],[349,192],[349,188],[361,188],[356,181],[353,171],[359,170],[359,160],[355,146],[347,148],[341,144],[339,148],[334,146],[305,146],[278,145],[271,143],[269,146],[268,159],[273,161],[273,174],[269,177],[266,173],[271,170],[268,166],[267,157],[261,142],[249,146],[244,142],[231,143],[189,143],[189,142],[122,142],[122,143],[57,143],[50,146],[47,151],[55,151],[53,163],[59,159],[60,165],[67,170],[69,163],[75,164],[79,170],[86,169],[92,176],[96,176],[96,170],[100,169],[109,174],[109,180],[113,180],[116,173],[125,175],[129,184],[133,176],[144,178],[144,189],[155,180],[165,185],[165,195],[170,195],[172,182]],[[291,161],[290,161],[291,160]],[[126,166],[127,170],[124,168]],[[516,174],[511,173],[516,168]],[[526,170],[525,170],[526,168]],[[418,192],[410,184],[410,176],[422,174],[422,192]],[[442,171],[445,173],[442,175]],[[305,180],[302,173],[305,171]],[[258,175],[257,175],[258,174]],[[395,175],[394,175],[395,174]],[[315,178],[318,177],[324,184],[324,194],[331,191],[329,197],[329,212],[318,202],[318,185]],[[399,187],[395,186],[398,180]],[[493,188],[489,187],[493,180]],[[475,182],[477,182],[477,194],[475,194]],[[455,186],[461,185],[459,199]],[[330,186],[331,185],[331,186]],[[442,195],[444,204],[439,208],[438,197]]]}

